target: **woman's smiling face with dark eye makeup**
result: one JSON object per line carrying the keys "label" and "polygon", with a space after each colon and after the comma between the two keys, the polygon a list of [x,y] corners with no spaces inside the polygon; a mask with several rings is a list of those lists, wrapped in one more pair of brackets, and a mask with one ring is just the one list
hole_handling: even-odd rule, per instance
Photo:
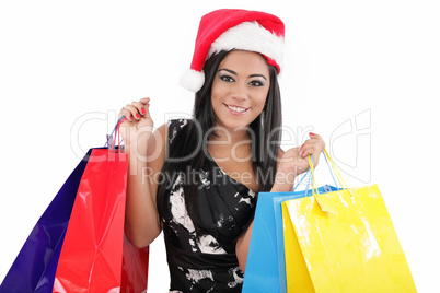
{"label": "woman's smiling face with dark eye makeup", "polygon": [[220,127],[248,127],[263,112],[270,86],[269,67],[257,52],[234,50],[220,62],[211,103]]}

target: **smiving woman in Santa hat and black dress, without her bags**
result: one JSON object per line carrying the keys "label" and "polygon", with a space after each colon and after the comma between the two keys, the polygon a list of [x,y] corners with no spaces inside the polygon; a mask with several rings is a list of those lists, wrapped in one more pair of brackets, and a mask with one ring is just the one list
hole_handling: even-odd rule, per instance
{"label": "smiving woman in Santa hat and black dress, without her bags", "polygon": [[290,191],[324,142],[279,148],[283,24],[218,10],[199,25],[192,70],[194,118],[154,132],[149,98],[120,113],[129,153],[126,234],[149,245],[163,230],[171,292],[241,292],[258,191]]}

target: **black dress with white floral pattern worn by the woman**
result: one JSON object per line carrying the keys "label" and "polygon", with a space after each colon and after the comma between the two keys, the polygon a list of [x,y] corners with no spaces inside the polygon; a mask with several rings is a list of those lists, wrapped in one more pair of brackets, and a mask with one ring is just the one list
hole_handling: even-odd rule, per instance
{"label": "black dress with white floral pattern worn by the woman", "polygon": [[[169,143],[187,120],[172,120]],[[255,211],[255,192],[224,174],[208,154],[199,171],[198,216],[208,233],[196,237],[184,198],[184,176],[167,190],[169,219],[162,219],[170,268],[170,292],[241,292],[243,272],[235,256],[236,237]]]}

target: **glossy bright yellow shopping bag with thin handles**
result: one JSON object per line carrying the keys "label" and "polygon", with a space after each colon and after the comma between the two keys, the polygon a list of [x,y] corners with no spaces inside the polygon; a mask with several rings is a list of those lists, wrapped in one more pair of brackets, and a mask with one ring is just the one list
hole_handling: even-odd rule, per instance
{"label": "glossy bright yellow shopping bag with thin handles", "polygon": [[282,203],[288,292],[416,292],[379,187],[316,191]]}

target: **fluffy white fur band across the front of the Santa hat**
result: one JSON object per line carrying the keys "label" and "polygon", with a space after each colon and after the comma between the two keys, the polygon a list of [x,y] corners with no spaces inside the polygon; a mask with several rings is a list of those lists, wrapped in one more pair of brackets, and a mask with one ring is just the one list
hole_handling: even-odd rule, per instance
{"label": "fluffy white fur band across the front of the Santa hat", "polygon": [[274,59],[282,68],[285,39],[274,35],[257,22],[243,22],[221,34],[209,49],[208,58],[221,50],[256,51]]}

